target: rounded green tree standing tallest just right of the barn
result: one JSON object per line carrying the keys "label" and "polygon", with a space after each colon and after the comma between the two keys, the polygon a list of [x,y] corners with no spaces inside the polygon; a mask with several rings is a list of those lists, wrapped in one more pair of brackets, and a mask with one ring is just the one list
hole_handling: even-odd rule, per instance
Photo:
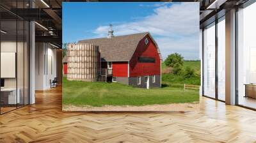
{"label": "rounded green tree standing tallest just right of the barn", "polygon": [[182,72],[182,66],[184,64],[184,57],[178,53],[170,54],[164,61],[166,66],[172,67],[172,72],[175,75],[178,75]]}

